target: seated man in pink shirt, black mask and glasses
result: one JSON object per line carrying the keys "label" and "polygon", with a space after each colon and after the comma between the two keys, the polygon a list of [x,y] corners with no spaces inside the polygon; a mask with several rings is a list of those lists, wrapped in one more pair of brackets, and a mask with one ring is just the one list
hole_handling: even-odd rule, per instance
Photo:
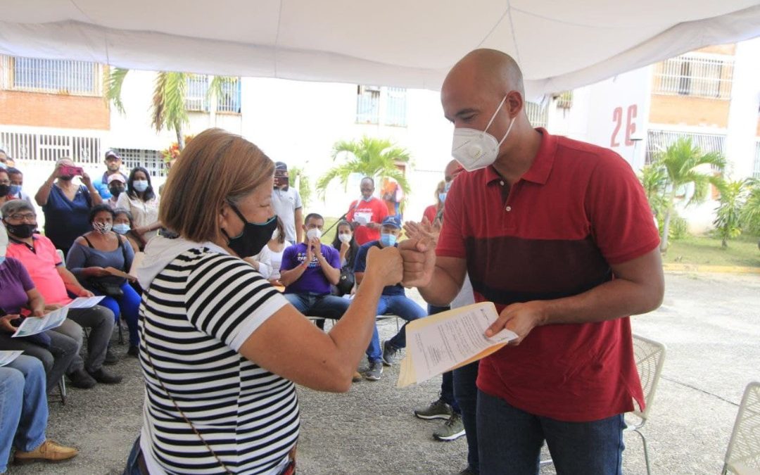
{"label": "seated man in pink shirt, black mask and glasses", "polygon": [[[52,241],[34,233],[37,217],[27,201],[13,200],[4,204],[2,220],[5,229],[8,230],[6,255],[24,264],[34,287],[43,296],[46,304],[68,305],[71,303],[69,291],[76,296],[93,296],[93,293],[82,287],[74,274],[66,269]],[[113,333],[113,312],[96,305],[86,309],[69,309],[68,318],[82,327],[90,328],[90,335],[87,337],[87,359],[83,361],[81,356],[76,356],[68,368],[71,384],[78,388],[91,388],[95,382],[121,382],[121,376],[103,368],[108,343]],[[116,363],[116,358],[111,357],[110,361]]]}

